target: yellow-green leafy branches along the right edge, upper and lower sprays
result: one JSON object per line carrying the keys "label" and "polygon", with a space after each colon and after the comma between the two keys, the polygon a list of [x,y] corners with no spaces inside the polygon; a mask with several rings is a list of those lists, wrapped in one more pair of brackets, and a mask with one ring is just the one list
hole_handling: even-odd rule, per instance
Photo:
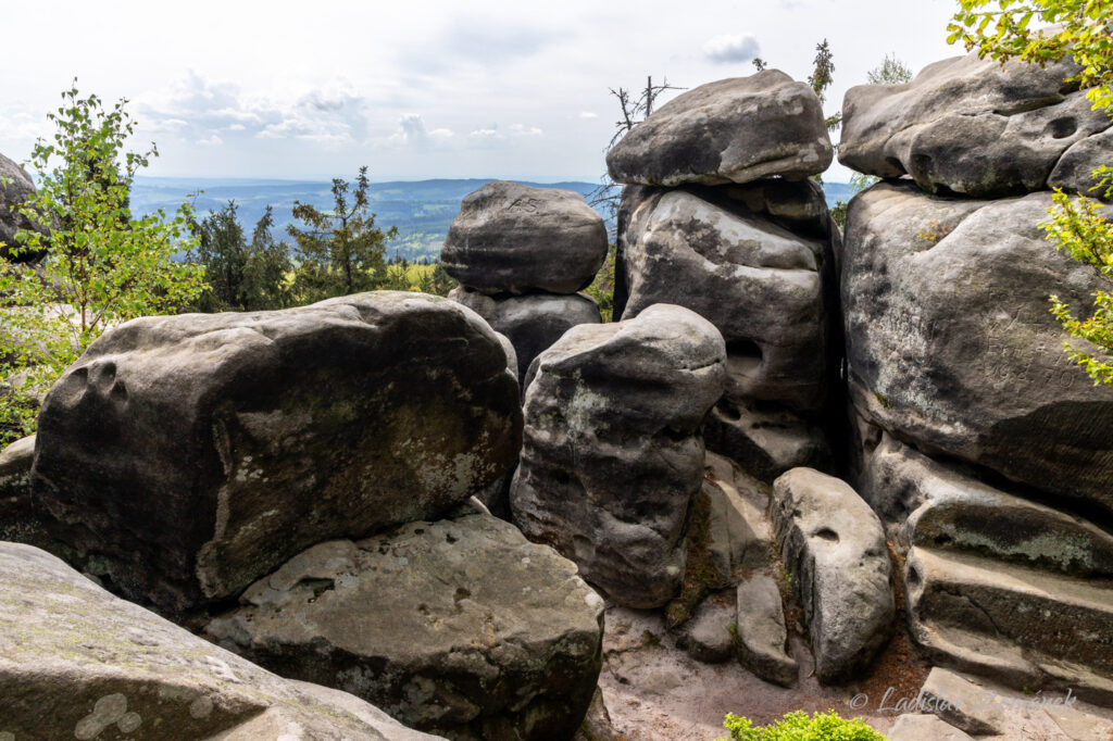
{"label": "yellow-green leafy branches along the right edge, upper and lower sprays", "polygon": [[[1067,78],[1086,89],[1095,110],[1113,116],[1113,3],[1109,0],[958,0],[959,11],[947,27],[947,41],[962,41],[979,57],[1005,63],[1008,60],[1045,66],[1070,57],[1078,71]],[[1052,24],[1032,29],[1032,21]],[[1113,197],[1113,170],[1102,162],[1094,170],[1092,190]],[[1113,280],[1113,225],[1103,219],[1097,204],[1089,198],[1071,198],[1062,190],[1043,226],[1057,249],[1091,266],[1103,283]],[[1051,310],[1067,335],[1096,346],[1064,343],[1070,356],[1082,365],[1094,384],[1113,385],[1113,296],[1094,294],[1090,317],[1078,318],[1057,296]]]}

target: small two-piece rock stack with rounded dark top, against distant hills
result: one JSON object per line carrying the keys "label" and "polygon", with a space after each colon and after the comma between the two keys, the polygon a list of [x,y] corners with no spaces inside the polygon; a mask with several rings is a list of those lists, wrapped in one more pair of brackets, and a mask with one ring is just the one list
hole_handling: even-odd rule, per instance
{"label": "small two-piece rock stack with rounded dark top, against distant hills", "polygon": [[598,304],[577,292],[605,257],[607,228],[579,194],[504,181],[464,198],[441,250],[461,284],[449,298],[510,338],[519,381],[571,327],[600,323]]}

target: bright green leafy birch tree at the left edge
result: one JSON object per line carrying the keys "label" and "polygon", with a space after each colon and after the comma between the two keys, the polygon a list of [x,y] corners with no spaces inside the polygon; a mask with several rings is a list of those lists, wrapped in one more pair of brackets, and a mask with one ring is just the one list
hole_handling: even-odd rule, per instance
{"label": "bright green leafy birch tree at the left edge", "polygon": [[[188,205],[132,218],[136,171],[157,156],[125,151],[135,124],[120,100],[106,110],[77,86],[48,118],[57,131],[39,140],[30,165],[38,191],[19,208],[41,228],[23,229],[14,256],[47,253],[35,267],[0,259],[0,435],[30,434],[33,404],[109,326],[174,312],[204,286],[204,271],[175,255],[193,247]],[[4,441],[0,441],[4,442]]]}

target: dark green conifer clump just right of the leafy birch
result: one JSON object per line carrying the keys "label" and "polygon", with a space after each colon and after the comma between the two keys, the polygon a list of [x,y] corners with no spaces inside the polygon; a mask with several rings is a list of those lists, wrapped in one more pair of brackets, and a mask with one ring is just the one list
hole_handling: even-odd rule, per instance
{"label": "dark green conifer clump just right of the leafy birch", "polygon": [[194,225],[197,248],[190,259],[204,266],[208,283],[196,308],[201,312],[256,312],[294,305],[289,248],[275,241],[270,206],[255,225],[252,240],[236,219],[236,204]]}

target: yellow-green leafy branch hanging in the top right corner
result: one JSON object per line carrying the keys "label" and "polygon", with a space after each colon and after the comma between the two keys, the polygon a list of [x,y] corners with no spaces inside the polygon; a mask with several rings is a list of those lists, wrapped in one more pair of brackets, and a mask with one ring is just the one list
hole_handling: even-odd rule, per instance
{"label": "yellow-green leafy branch hanging in the top right corner", "polygon": [[[1070,56],[1082,70],[1067,78],[1094,108],[1113,108],[1113,3],[1110,0],[958,0],[948,43],[962,41],[978,56],[1046,65]],[[1031,28],[1032,21],[1062,24]]]}

